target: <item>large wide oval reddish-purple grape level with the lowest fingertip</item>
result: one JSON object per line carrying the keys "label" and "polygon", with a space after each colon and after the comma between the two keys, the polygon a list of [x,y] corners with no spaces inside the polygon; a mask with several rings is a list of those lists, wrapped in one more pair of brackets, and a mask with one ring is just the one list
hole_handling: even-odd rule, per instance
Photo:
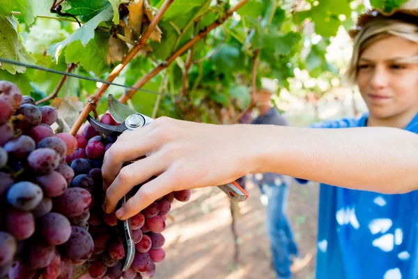
{"label": "large wide oval reddish-purple grape level with the lowest fingertip", "polygon": [[54,199],[54,210],[66,217],[75,217],[88,211],[91,195],[82,188],[67,188],[62,195]]}

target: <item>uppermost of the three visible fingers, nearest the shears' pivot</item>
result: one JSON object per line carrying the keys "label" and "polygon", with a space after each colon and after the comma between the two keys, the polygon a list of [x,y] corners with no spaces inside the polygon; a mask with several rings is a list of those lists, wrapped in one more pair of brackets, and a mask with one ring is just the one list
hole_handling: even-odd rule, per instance
{"label": "uppermost of the three visible fingers, nearest the shears' pivot", "polygon": [[155,142],[150,140],[149,133],[149,130],[127,132],[112,144],[104,154],[102,165],[104,188],[111,185],[123,163],[144,156],[153,149]]}

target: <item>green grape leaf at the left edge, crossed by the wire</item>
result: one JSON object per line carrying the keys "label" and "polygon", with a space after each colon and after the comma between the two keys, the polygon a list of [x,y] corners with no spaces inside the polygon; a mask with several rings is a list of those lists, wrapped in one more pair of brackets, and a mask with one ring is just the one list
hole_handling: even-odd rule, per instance
{"label": "green grape leaf at the left edge, crossed by the wire", "polygon": [[[20,36],[21,27],[13,15],[3,15],[0,13],[0,57],[12,59],[23,63],[35,63],[35,59],[29,54]],[[3,63],[3,70],[15,74],[24,73],[26,68]]]}

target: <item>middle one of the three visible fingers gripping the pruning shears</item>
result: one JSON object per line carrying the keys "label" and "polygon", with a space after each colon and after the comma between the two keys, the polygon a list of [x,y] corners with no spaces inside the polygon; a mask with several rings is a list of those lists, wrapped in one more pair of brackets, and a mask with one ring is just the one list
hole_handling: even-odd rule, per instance
{"label": "middle one of the three visible fingers gripping the pruning shears", "polygon": [[106,191],[103,204],[104,211],[107,213],[113,212],[119,200],[134,186],[150,179],[153,175],[159,174],[165,167],[166,165],[162,160],[159,160],[157,154],[123,167]]}

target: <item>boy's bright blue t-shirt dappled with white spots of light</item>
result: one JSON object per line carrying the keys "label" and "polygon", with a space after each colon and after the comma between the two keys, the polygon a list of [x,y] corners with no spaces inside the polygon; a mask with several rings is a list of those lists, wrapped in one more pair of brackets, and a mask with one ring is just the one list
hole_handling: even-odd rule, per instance
{"label": "boy's bright blue t-shirt dappled with white spots of light", "polygon": [[[311,127],[363,127],[367,115]],[[418,133],[418,114],[405,130]],[[418,190],[384,195],[321,183],[318,216],[317,279],[418,278]]]}

